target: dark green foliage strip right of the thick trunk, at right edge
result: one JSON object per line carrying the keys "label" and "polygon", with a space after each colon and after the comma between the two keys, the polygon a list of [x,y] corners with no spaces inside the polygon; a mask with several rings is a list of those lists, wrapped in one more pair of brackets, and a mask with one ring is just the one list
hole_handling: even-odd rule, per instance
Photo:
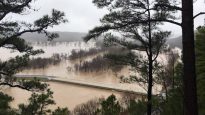
{"label": "dark green foliage strip right of the thick trunk, at right edge", "polygon": [[196,32],[196,72],[199,115],[205,114],[205,27]]}

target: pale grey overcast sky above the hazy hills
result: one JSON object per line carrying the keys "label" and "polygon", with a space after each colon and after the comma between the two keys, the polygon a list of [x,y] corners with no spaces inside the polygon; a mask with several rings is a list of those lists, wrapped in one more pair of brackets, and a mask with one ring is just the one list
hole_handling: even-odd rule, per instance
{"label": "pale grey overcast sky above the hazy hills", "polygon": [[[64,11],[69,23],[56,26],[54,31],[70,32],[88,32],[96,25],[99,25],[99,19],[103,17],[106,10],[98,9],[92,3],[92,0],[36,0],[33,8],[38,12],[32,12],[29,16],[18,16],[15,18],[24,18],[28,22],[40,18],[43,14],[48,14],[53,8]],[[205,11],[204,0],[197,0],[194,4],[194,13]],[[8,17],[13,18],[13,17]],[[195,20],[195,27],[204,24],[205,16],[200,16]],[[173,35],[180,35],[181,29],[171,24],[165,24],[164,29],[172,30]]]}

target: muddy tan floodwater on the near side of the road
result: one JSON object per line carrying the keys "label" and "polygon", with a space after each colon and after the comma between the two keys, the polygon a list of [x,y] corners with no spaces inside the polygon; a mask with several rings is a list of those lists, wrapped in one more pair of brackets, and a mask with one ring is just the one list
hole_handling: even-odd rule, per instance
{"label": "muddy tan floodwater on the near side of the road", "polygon": [[[96,89],[58,82],[49,82],[49,85],[51,90],[54,91],[53,99],[56,102],[56,105],[50,106],[51,109],[55,109],[60,106],[68,107],[72,110],[76,105],[85,103],[94,98],[106,98],[111,94],[115,94],[116,97],[120,98],[122,94],[111,90]],[[19,88],[3,88],[3,92],[14,97],[14,101],[11,103],[14,108],[17,108],[20,103],[26,104],[27,99],[31,95],[31,92]]]}

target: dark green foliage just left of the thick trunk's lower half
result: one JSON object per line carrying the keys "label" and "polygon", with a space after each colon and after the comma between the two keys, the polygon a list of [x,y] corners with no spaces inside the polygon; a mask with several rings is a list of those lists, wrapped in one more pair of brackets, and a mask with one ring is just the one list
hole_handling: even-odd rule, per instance
{"label": "dark green foliage just left of the thick trunk's lower half", "polygon": [[175,67],[174,81],[175,86],[170,87],[167,97],[159,99],[158,108],[161,110],[161,115],[183,115],[183,65],[178,63]]}

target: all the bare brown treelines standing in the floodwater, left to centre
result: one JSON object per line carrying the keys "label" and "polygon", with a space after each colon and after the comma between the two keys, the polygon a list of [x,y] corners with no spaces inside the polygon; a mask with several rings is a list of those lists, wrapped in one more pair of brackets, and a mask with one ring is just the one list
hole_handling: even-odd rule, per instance
{"label": "all the bare brown treelines standing in the floodwater, left to centre", "polygon": [[24,67],[23,69],[45,69],[51,65],[57,65],[60,64],[63,60],[75,60],[75,59],[81,59],[81,58],[88,58],[89,56],[97,56],[93,58],[91,61],[85,61],[81,60],[80,63],[77,63],[74,65],[74,68],[69,68],[69,70],[76,70],[80,72],[102,72],[102,71],[108,71],[112,70],[113,72],[120,71],[123,66],[119,65],[113,65],[112,60],[106,58],[106,56],[99,55],[99,53],[103,53],[103,55],[108,53],[123,53],[125,50],[122,50],[121,48],[112,47],[112,48],[106,48],[102,47],[99,49],[91,48],[88,51],[86,50],[80,50],[75,51],[73,50],[71,52],[71,55],[68,53],[62,53],[62,54],[53,54],[53,56],[49,58],[32,58],[29,61],[28,66]]}

